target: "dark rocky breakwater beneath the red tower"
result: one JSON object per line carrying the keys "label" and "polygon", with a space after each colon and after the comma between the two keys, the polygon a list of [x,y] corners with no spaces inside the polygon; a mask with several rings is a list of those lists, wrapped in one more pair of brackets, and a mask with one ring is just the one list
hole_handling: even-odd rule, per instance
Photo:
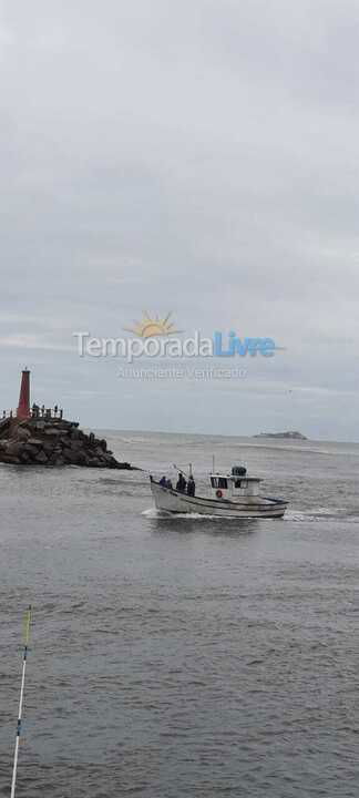
{"label": "dark rocky breakwater beneath the red tower", "polygon": [[75,421],[30,418],[0,422],[0,462],[14,466],[84,466],[131,469],[119,462],[104,439],[86,434]]}

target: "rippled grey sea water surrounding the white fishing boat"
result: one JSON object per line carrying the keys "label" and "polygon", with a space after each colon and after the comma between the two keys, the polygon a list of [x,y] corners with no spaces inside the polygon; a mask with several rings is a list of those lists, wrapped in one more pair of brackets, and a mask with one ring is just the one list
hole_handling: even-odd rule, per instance
{"label": "rippled grey sea water surrounding the white fishing boat", "polygon": [[161,519],[146,474],[0,467],[0,796],[358,796],[359,446],[112,433],[247,461],[280,521]]}

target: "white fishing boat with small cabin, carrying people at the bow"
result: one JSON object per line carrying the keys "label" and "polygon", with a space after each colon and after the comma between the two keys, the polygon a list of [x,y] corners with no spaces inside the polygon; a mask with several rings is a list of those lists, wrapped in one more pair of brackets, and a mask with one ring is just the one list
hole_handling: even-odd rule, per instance
{"label": "white fishing boat with small cabin, carrying people at the bow", "polygon": [[[189,470],[189,477],[192,472]],[[151,491],[157,510],[170,513],[201,513],[224,518],[281,518],[288,502],[259,494],[259,477],[248,477],[247,469],[234,466],[230,473],[209,473],[208,495],[188,495],[162,478],[152,475]]]}

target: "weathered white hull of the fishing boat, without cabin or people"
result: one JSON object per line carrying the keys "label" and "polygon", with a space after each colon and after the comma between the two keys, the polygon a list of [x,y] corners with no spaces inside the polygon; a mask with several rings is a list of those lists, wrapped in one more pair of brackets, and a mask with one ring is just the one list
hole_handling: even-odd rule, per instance
{"label": "weathered white hull of the fishing boat, without cabin or people", "polygon": [[151,491],[157,510],[177,513],[201,513],[223,518],[281,518],[287,502],[281,499],[250,497],[238,501],[228,499],[208,499],[206,497],[188,497],[171,488],[164,488],[154,480]]}

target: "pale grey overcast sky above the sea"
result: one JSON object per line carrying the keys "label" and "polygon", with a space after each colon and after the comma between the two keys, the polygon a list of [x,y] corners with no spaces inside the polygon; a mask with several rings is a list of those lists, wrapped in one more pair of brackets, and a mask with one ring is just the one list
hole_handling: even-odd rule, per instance
{"label": "pale grey overcast sky above the sea", "polygon": [[[94,428],[358,441],[358,1],[0,9],[2,407],[27,365]],[[285,349],[212,382],[79,358],[144,309]]]}

